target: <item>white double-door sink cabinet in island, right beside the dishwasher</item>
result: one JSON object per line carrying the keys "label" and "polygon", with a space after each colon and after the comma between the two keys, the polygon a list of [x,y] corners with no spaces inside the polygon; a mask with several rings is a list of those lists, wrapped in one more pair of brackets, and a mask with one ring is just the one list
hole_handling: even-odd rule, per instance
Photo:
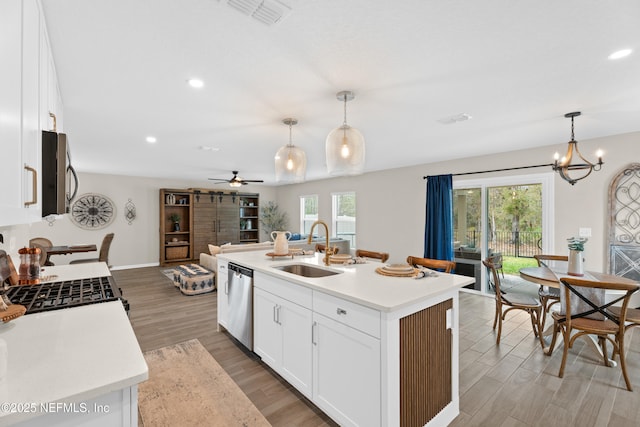
{"label": "white double-door sink cabinet in island, right beside the dishwasher", "polygon": [[311,290],[255,272],[253,313],[253,351],[311,399]]}

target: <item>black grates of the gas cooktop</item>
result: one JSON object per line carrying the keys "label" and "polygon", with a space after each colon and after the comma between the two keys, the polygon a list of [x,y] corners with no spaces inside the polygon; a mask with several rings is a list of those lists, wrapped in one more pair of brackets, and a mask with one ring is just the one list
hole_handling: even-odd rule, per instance
{"label": "black grates of the gas cooktop", "polygon": [[109,276],[13,286],[7,296],[12,303],[24,305],[26,314],[115,300],[121,300],[129,311],[129,304]]}

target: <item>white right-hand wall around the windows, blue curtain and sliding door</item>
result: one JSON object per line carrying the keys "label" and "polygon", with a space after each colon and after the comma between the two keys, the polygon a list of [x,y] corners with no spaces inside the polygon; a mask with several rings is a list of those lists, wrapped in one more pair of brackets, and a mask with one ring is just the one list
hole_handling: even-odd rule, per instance
{"label": "white right-hand wall around the windows, blue curtain and sliding door", "polygon": [[[626,165],[640,161],[640,132],[579,142],[585,157],[595,160],[598,148],[604,150],[600,172],[594,172],[571,186],[551,168],[537,168],[474,175],[474,179],[504,175],[548,172],[554,177],[555,241],[554,251],[567,251],[566,238],[577,235],[580,227],[592,229],[585,247],[586,268],[604,271],[607,249],[607,190],[611,179]],[[428,147],[425,148],[428,150]],[[451,160],[401,169],[368,173],[355,177],[334,178],[279,187],[278,204],[299,223],[299,196],[318,195],[319,218],[331,220],[331,193],[355,191],[357,198],[358,247],[389,252],[392,261],[408,255],[422,256],[425,219],[425,175],[462,173],[516,166],[546,164],[553,161],[553,150],[566,151],[566,145],[513,151],[489,156]],[[469,176],[454,177],[469,179]],[[292,230],[298,231],[298,230]]]}

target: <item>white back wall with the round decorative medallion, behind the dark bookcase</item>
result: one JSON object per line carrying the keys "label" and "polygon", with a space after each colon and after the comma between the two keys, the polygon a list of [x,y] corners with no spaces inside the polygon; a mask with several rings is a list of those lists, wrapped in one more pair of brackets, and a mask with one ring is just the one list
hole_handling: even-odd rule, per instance
{"label": "white back wall with the round decorative medallion, behind the dark bookcase", "polygon": [[[107,227],[100,230],[85,230],[76,226],[68,215],[63,215],[52,226],[47,221],[31,225],[15,226],[0,230],[4,234],[5,244],[0,249],[11,254],[17,260],[17,250],[28,245],[32,237],[46,237],[54,245],[95,243],[98,247],[107,233],[114,233],[109,251],[109,263],[114,267],[158,265],[159,260],[159,190],[160,188],[212,188],[217,191],[229,191],[225,185],[212,186],[209,181],[176,181],[155,178],[140,178],[118,175],[91,173],[79,174],[78,195],[99,193],[109,197],[116,207],[116,217]],[[260,193],[260,201],[273,200],[273,187],[246,185],[242,192]],[[131,225],[124,216],[125,204],[131,199],[136,206],[137,218]],[[14,240],[11,247],[10,240]],[[56,255],[51,260],[55,264],[67,264],[72,259],[89,258],[97,254]]]}

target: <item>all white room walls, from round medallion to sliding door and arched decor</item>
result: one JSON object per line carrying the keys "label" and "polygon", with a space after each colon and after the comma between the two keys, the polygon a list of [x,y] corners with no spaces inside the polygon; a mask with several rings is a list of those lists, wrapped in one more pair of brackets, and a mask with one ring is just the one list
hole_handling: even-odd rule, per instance
{"label": "all white room walls, from round medallion to sliding door and arched decor", "polygon": [[[611,179],[624,166],[640,162],[640,132],[615,135],[579,142],[582,153],[593,159],[595,151],[602,148],[605,164],[600,172],[594,172],[575,186],[554,176],[555,189],[555,252],[566,252],[567,237],[577,235],[580,227],[590,227],[592,237],[585,247],[586,268],[604,271],[607,262],[607,190]],[[425,148],[425,149],[428,149]],[[319,218],[331,220],[331,193],[355,191],[357,195],[357,241],[360,248],[389,252],[392,261],[402,261],[408,255],[422,255],[425,216],[425,175],[469,172],[550,163],[553,150],[565,150],[566,145],[541,147],[483,157],[466,158],[447,162],[425,164],[401,169],[368,173],[355,177],[332,178],[303,184],[269,187],[246,186],[246,192],[259,192],[261,203],[275,200],[288,213],[290,231],[297,230],[300,221],[299,196],[318,194]],[[520,171],[527,173],[550,172],[550,168]],[[491,177],[515,175],[517,171],[476,175]],[[454,177],[464,179],[465,177]],[[17,226],[0,230],[5,244],[0,249],[16,253],[28,243],[30,237],[49,237],[56,244],[100,244],[105,233],[113,231],[110,261],[118,266],[158,263],[158,190],[160,188],[211,187],[205,182],[176,182],[161,179],[80,174],[80,194],[101,193],[113,200],[117,217],[109,227],[82,230],[68,219],[58,220],[52,227],[46,221],[30,226]],[[218,187],[216,187],[218,188]],[[219,188],[223,188],[220,186]],[[226,188],[225,188],[226,189]],[[128,225],[124,218],[124,205],[131,198],[136,205],[138,218]],[[9,248],[13,239],[14,249]],[[263,236],[263,240],[267,239]],[[86,256],[86,255],[85,255]],[[76,255],[75,257],[80,257]],[[58,256],[54,262],[62,264],[73,259],[71,255]]]}

